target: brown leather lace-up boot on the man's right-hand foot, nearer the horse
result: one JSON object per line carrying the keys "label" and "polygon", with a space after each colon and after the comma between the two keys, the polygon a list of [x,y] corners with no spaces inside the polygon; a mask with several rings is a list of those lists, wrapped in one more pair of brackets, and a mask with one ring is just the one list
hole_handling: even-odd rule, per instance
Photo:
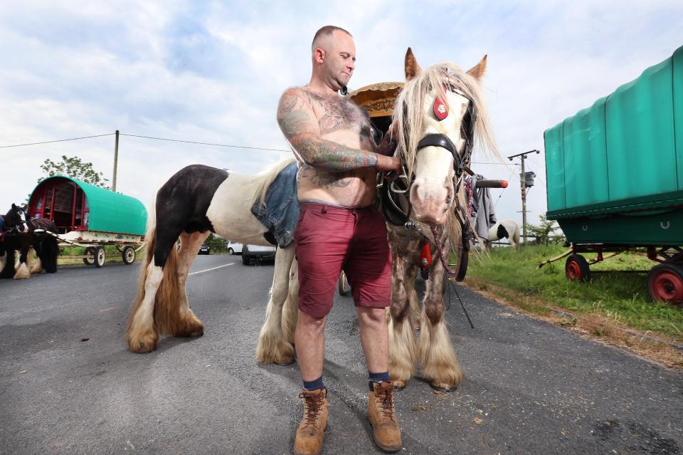
{"label": "brown leather lace-up boot on the man's right-hand foot, nearer the horse", "polygon": [[401,429],[393,407],[393,384],[373,382],[374,390],[368,395],[368,418],[372,425],[372,439],[383,451],[401,450]]}

